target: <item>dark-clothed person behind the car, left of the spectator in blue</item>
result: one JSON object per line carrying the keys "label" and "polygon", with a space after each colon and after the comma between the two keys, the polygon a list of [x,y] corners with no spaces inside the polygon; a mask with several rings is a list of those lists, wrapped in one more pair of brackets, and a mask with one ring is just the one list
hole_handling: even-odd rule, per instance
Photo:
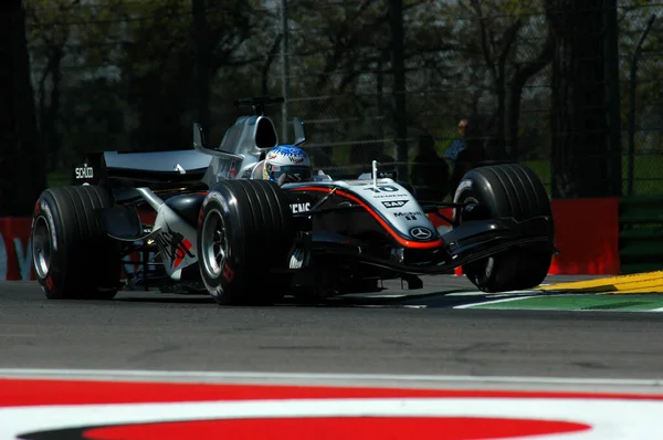
{"label": "dark-clothed person behind the car, left of the spectator in blue", "polygon": [[411,170],[411,182],[417,187],[418,199],[442,201],[449,190],[449,165],[435,151],[431,135],[419,137],[419,151]]}

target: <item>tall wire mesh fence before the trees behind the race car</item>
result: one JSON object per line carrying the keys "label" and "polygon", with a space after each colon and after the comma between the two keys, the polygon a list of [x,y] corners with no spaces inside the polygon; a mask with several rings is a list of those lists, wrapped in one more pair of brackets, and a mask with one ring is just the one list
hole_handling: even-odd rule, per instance
{"label": "tall wire mesh fence before the trees behind the race car", "polygon": [[[286,39],[284,3],[208,0],[200,3],[203,20],[196,21],[189,0],[27,0],[49,170],[67,172],[90,149],[190,148],[190,124],[200,122],[206,105],[209,139],[219,142],[238,115],[234,98],[284,91],[287,116],[306,122],[306,149],[315,167],[339,176],[358,175],[372,159],[397,163],[399,124],[407,129],[402,140],[410,174],[418,157],[436,164],[431,172],[442,174],[435,158],[460,137],[461,119],[471,121],[483,159],[525,163],[551,191],[554,174],[564,177],[560,167],[587,167],[572,150],[565,160],[555,159],[560,136],[598,129],[564,125],[559,115],[568,113],[558,113],[564,99],[555,101],[565,49],[559,34],[575,32],[571,21],[556,21],[555,13],[564,14],[572,2],[402,1],[403,92],[394,82],[391,0],[288,0]],[[609,1],[589,3],[601,11],[611,8]],[[633,78],[633,54],[654,14],[659,18],[640,45]],[[583,35],[610,38],[608,15],[601,17]],[[599,103],[597,112],[613,106],[619,115],[623,192],[663,193],[663,3],[620,0],[617,30],[618,98]],[[613,55],[603,49],[586,57],[601,57],[607,65]],[[603,73],[578,84],[607,90],[610,78]],[[201,81],[209,82],[209,96],[201,97]],[[404,109],[397,105],[399,93],[404,93]],[[594,104],[582,105],[587,111]],[[281,127],[281,109],[269,111]],[[292,134],[282,137],[292,140]],[[425,146],[436,155],[427,156]],[[448,160],[445,172],[453,166]]]}

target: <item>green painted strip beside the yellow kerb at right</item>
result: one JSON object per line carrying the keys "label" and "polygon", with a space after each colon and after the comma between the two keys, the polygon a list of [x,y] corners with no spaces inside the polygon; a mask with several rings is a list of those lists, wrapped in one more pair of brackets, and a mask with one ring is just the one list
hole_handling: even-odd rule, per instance
{"label": "green painted strip beside the yellow kerb at right", "polygon": [[642,312],[663,310],[663,295],[546,295],[487,301],[463,308]]}

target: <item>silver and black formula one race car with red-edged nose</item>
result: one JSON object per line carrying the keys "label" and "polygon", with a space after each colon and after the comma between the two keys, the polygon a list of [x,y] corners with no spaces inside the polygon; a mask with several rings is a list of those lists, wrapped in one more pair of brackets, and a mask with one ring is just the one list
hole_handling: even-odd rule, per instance
{"label": "silver and black formula one race car with red-edged nose", "polygon": [[[255,114],[239,117],[218,148],[204,145],[194,124],[193,149],[105,151],[75,169],[77,185],[44,190],[32,255],[46,297],[112,298],[123,287],[155,286],[207,291],[220,304],[265,304],[287,294],[375,291],[380,280],[420,289],[419,275],[459,265],[485,292],[534,287],[547,275],[554,223],[530,169],[472,169],[453,203],[417,200],[377,163],[368,179],[318,171],[278,186],[256,168],[278,146],[264,107],[281,102],[236,101]],[[293,123],[302,145],[304,124]],[[428,216],[442,216],[442,207],[454,214],[440,233]],[[129,254],[143,256],[141,270],[125,284],[120,266]]]}

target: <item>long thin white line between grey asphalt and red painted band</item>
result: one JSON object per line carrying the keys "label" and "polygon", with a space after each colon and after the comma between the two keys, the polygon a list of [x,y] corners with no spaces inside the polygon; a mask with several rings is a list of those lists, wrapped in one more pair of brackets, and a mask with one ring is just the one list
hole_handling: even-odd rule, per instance
{"label": "long thin white line between grey asphalt and red painted band", "polygon": [[261,371],[160,371],[160,370],[113,370],[113,369],[50,369],[50,368],[0,368],[1,377],[59,377],[59,378],[199,378],[199,379],[286,379],[286,380],[398,380],[438,383],[503,383],[503,384],[550,384],[550,385],[624,385],[663,387],[661,379],[612,379],[575,377],[517,377],[517,376],[438,376],[438,375],[379,375],[379,374],[317,374],[317,373],[261,373]]}

